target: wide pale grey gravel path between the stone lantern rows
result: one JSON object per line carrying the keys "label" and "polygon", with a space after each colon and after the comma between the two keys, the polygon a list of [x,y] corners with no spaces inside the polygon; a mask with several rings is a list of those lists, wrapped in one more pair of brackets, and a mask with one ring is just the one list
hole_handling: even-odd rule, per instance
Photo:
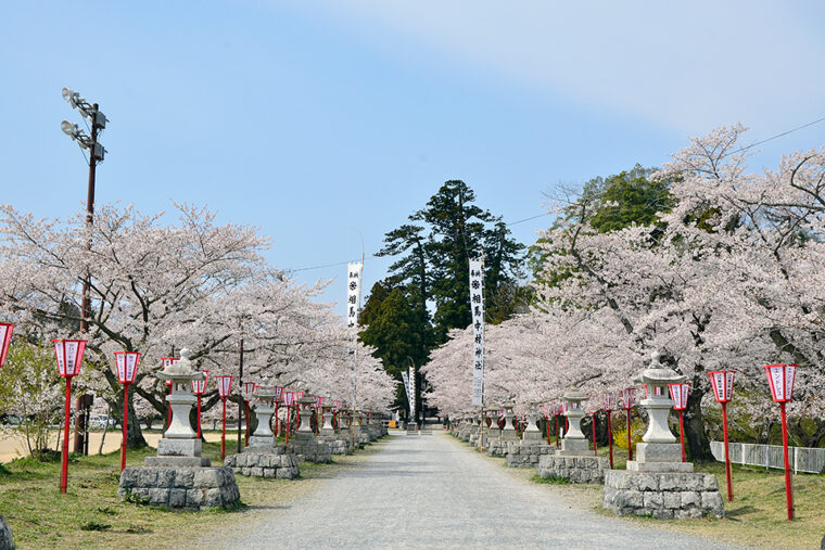
{"label": "wide pale grey gravel path between the stone lantern rows", "polygon": [[320,490],[237,525],[219,548],[731,548],[571,508],[452,437],[391,436]]}

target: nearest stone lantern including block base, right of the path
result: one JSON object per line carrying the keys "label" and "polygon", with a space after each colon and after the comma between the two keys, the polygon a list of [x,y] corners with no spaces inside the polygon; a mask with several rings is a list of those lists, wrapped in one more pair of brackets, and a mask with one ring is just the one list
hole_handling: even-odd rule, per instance
{"label": "nearest stone lantern including block base, right of the path", "polygon": [[668,425],[673,401],[668,384],[685,376],[659,362],[653,353],[650,367],[640,375],[647,397],[639,404],[648,412],[649,424],[636,446],[636,460],[626,471],[610,471],[605,476],[602,506],[618,515],[651,515],[658,519],[687,519],[724,515],[719,482],[713,474],[694,472],[691,462],[682,462],[682,447]]}

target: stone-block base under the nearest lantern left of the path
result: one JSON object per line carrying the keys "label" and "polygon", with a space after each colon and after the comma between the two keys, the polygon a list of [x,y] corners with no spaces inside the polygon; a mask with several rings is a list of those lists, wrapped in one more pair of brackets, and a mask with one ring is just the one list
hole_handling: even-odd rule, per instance
{"label": "stone-block base under the nearest lantern left of the path", "polygon": [[232,507],[241,500],[230,468],[127,468],[119,497],[134,495],[149,504],[183,510]]}

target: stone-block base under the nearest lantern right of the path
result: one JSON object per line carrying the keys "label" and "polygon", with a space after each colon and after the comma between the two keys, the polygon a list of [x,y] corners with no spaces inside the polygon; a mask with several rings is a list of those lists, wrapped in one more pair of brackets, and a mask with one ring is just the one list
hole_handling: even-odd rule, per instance
{"label": "stone-block base under the nearest lantern right of the path", "polygon": [[662,520],[724,516],[724,502],[713,474],[644,473],[611,470],[605,474],[602,506],[617,515]]}

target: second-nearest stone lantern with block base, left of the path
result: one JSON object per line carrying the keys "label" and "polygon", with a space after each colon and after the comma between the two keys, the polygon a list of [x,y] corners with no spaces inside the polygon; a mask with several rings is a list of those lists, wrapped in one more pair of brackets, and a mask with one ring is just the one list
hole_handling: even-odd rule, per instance
{"label": "second-nearest stone lantern with block base, left of the path", "polygon": [[258,419],[257,429],[250,436],[249,447],[244,447],[240,455],[226,457],[224,465],[242,475],[297,479],[301,475],[297,457],[284,447],[276,447],[276,437],[269,427],[270,419],[275,413],[272,409],[275,387],[269,386],[265,379],[263,384],[255,389],[253,398],[255,399],[255,415]]}

